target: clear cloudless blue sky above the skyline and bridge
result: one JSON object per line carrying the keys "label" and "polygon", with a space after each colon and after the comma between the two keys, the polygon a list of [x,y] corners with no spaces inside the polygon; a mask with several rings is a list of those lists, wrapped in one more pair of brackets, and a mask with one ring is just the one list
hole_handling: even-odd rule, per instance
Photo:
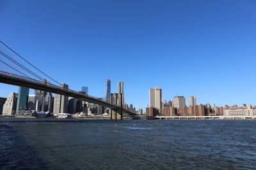
{"label": "clear cloudless blue sky above the skyline and bridge", "polygon": [[[148,104],[196,96],[198,103],[256,104],[256,1],[0,0],[0,38],[70,89],[104,96],[124,81],[125,99]],[[0,85],[7,97],[17,87]]]}

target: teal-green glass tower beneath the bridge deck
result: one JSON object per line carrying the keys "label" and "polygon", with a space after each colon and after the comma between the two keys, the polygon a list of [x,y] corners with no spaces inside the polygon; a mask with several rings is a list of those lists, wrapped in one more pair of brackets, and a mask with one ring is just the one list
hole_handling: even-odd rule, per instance
{"label": "teal-green glass tower beneath the bridge deck", "polygon": [[28,87],[19,87],[19,96],[17,99],[16,114],[18,114],[20,110],[27,110],[28,95],[29,95]]}

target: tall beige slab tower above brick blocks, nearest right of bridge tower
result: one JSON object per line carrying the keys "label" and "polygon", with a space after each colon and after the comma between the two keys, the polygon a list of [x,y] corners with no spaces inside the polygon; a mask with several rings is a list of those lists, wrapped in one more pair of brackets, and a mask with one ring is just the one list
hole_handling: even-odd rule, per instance
{"label": "tall beige slab tower above brick blocks, nearest right of bridge tower", "polygon": [[149,106],[150,108],[162,108],[162,89],[159,87],[149,89]]}

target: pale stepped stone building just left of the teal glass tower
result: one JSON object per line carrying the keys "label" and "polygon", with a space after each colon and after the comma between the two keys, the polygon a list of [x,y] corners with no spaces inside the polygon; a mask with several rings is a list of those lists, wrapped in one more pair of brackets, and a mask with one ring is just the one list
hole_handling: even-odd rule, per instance
{"label": "pale stepped stone building just left of the teal glass tower", "polygon": [[17,98],[19,94],[15,92],[11,92],[8,98],[6,99],[4,106],[3,106],[3,113],[2,115],[11,116],[15,115],[16,108],[17,108]]}

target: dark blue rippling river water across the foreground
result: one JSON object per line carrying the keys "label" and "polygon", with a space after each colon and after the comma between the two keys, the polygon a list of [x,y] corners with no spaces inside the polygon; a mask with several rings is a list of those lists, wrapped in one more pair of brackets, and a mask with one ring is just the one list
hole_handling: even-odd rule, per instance
{"label": "dark blue rippling river water across the foreground", "polygon": [[255,120],[0,118],[0,169],[255,169]]}

